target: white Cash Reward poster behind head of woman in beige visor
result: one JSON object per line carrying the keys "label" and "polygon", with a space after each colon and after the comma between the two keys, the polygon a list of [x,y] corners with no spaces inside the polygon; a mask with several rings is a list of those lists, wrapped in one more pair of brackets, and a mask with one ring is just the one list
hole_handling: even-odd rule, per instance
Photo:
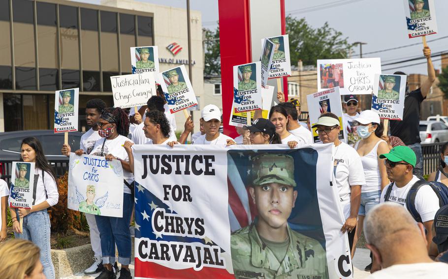
{"label": "white Cash Reward poster behind head of woman in beige visor", "polygon": [[[306,96],[308,103],[308,113],[310,116],[310,126],[318,122],[319,116],[325,112],[331,112],[336,114],[339,118],[340,132],[339,140],[346,140],[346,130],[344,129],[343,112],[341,105],[341,95],[339,93],[339,87],[333,87],[324,91],[309,94]],[[312,129],[314,142],[320,142],[319,135],[316,132],[316,128]]]}

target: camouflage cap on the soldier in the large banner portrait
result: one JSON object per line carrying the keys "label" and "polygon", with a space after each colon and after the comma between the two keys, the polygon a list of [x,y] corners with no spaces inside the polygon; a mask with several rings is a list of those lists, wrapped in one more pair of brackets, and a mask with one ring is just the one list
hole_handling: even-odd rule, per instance
{"label": "camouflage cap on the soldier in the large banner portrait", "polygon": [[294,181],[294,160],[284,154],[264,154],[252,160],[253,185],[259,186],[268,183],[280,183],[296,186]]}

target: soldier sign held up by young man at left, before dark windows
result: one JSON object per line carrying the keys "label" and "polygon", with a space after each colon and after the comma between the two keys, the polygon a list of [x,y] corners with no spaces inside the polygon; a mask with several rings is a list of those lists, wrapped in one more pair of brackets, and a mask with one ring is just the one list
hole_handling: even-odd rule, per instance
{"label": "soldier sign held up by young man at left, before dark windows", "polygon": [[78,131],[79,88],[55,92],[55,133]]}

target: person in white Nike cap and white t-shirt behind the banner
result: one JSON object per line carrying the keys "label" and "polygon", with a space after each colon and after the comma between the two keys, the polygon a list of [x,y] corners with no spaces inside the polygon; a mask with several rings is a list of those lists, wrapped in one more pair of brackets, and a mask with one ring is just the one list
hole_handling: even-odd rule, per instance
{"label": "person in white Nike cap and white t-shirt behind the banner", "polygon": [[197,138],[193,144],[226,145],[227,140],[234,141],[218,131],[221,124],[221,111],[217,106],[205,106],[201,111],[199,121],[204,126],[205,134]]}

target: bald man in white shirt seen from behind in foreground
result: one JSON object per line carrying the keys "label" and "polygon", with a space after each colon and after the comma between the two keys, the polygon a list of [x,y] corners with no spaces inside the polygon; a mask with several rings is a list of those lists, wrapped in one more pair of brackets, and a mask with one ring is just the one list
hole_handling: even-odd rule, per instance
{"label": "bald man in white shirt seen from behind in foreground", "polygon": [[364,234],[374,265],[383,268],[368,279],[447,278],[448,264],[431,260],[422,224],[402,206],[376,205],[364,220]]}

